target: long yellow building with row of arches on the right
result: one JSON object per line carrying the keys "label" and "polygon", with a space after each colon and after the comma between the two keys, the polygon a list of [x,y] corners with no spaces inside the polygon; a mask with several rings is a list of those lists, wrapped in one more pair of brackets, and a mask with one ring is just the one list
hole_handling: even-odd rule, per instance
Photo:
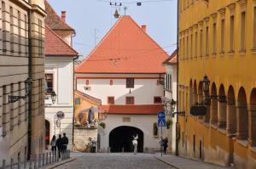
{"label": "long yellow building with row of arches on the right", "polygon": [[[256,1],[179,0],[179,153],[236,168],[256,168]],[[211,100],[207,115],[193,116],[201,103],[203,77]]]}

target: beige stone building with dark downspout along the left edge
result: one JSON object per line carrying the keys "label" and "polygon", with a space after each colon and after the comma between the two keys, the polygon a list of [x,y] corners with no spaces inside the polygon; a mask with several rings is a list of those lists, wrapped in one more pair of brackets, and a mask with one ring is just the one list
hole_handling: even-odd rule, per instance
{"label": "beige stone building with dark downspout along the left edge", "polygon": [[9,163],[44,151],[45,11],[44,0],[0,7],[0,160]]}

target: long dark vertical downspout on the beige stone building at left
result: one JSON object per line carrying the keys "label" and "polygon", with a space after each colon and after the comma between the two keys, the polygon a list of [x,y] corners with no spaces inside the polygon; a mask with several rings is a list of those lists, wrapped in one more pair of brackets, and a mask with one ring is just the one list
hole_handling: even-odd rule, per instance
{"label": "long dark vertical downspout on the beige stone building at left", "polygon": [[[31,1],[29,1],[31,3]],[[32,80],[32,32],[31,32],[31,9],[27,12],[28,20],[28,78]],[[28,85],[28,129],[27,129],[27,160],[32,154],[32,84]]]}

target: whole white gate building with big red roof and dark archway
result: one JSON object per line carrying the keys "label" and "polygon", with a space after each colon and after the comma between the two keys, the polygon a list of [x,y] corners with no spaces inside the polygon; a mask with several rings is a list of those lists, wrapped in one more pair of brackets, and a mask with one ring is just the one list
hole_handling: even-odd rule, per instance
{"label": "whole white gate building with big red roof and dark archway", "polygon": [[121,17],[87,59],[75,70],[80,92],[102,100],[108,116],[99,133],[99,148],[131,151],[138,134],[138,151],[160,149],[157,113],[163,110],[163,81],[168,57],[130,16]]}

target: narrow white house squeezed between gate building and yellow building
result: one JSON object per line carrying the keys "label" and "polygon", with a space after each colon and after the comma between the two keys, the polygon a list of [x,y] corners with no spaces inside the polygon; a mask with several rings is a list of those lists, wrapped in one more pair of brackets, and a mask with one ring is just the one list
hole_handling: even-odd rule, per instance
{"label": "narrow white house squeezed between gate building and yellow building", "polygon": [[[166,76],[165,76],[165,99],[166,102],[170,102],[172,99],[177,101],[177,51],[175,51],[166,61]],[[166,129],[165,135],[168,137],[169,146],[168,153],[175,154],[176,149],[176,122],[177,115],[172,116],[171,105],[166,104],[167,119],[172,121],[170,128]],[[177,111],[175,106],[174,112]]]}

